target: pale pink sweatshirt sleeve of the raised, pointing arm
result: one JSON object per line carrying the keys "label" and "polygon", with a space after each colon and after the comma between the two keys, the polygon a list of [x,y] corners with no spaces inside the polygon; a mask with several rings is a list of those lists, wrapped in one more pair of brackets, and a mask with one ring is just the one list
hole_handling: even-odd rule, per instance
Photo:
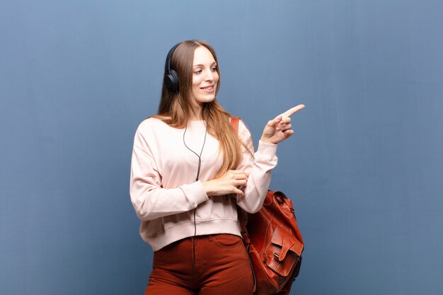
{"label": "pale pink sweatshirt sleeve of the raised, pointing arm", "polygon": [[249,173],[249,178],[243,189],[245,196],[237,196],[237,203],[246,212],[255,213],[263,205],[271,181],[271,170],[277,166],[277,144],[259,141],[254,154],[251,132],[241,120],[238,122],[238,137],[246,145],[243,147],[243,160],[238,169]]}

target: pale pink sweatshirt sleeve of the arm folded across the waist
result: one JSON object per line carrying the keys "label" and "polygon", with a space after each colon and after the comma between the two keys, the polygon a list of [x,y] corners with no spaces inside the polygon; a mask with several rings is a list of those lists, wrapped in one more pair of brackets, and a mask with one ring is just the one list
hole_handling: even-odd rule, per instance
{"label": "pale pink sweatshirt sleeve of the arm folded across the waist", "polygon": [[[139,129],[134,137],[130,174],[131,202],[139,219],[149,221],[187,212],[207,201],[200,181],[176,188],[163,188],[155,156],[145,140],[146,136]],[[154,140],[155,137],[149,138]]]}

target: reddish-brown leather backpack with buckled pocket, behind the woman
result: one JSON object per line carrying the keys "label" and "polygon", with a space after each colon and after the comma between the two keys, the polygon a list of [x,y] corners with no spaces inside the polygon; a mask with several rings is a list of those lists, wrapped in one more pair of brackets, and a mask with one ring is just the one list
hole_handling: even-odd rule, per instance
{"label": "reddish-brown leather backpack with buckled pocket, behind the woman", "polygon": [[[238,120],[231,124],[238,131]],[[255,214],[238,208],[243,243],[255,275],[255,295],[287,295],[299,275],[303,238],[294,215],[291,199],[283,192],[267,191],[263,207]],[[246,225],[245,225],[246,224]]]}

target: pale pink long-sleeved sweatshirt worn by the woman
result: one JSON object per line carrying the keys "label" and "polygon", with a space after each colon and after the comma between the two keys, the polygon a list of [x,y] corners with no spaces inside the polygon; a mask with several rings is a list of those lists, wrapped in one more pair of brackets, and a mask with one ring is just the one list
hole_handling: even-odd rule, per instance
{"label": "pale pink long-sleeved sweatshirt worn by the woman", "polygon": [[[159,119],[144,120],[134,137],[132,150],[130,195],[135,212],[142,220],[140,235],[154,251],[194,236],[194,210],[197,236],[240,234],[237,221],[238,204],[246,212],[260,210],[270,184],[271,170],[277,165],[277,144],[258,144],[254,158],[243,148],[239,170],[249,173],[243,189],[245,197],[233,195],[207,196],[202,182],[211,180],[222,165],[219,141],[207,134],[201,156],[199,180],[198,157],[205,139],[205,121],[188,122],[185,129],[170,127]],[[238,124],[238,137],[253,152],[251,133]]]}

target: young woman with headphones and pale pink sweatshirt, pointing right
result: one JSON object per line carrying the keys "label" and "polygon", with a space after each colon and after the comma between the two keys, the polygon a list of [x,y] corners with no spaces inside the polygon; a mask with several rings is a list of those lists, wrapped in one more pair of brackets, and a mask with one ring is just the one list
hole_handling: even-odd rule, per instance
{"label": "young woman with headphones and pale pink sweatshirt, pointing right", "polygon": [[293,134],[289,115],[267,122],[254,153],[243,122],[238,134],[217,102],[217,56],[187,40],[166,58],[159,113],[134,137],[130,195],[140,234],[154,250],[145,294],[252,294],[237,206],[257,212],[277,165],[277,143]]}

